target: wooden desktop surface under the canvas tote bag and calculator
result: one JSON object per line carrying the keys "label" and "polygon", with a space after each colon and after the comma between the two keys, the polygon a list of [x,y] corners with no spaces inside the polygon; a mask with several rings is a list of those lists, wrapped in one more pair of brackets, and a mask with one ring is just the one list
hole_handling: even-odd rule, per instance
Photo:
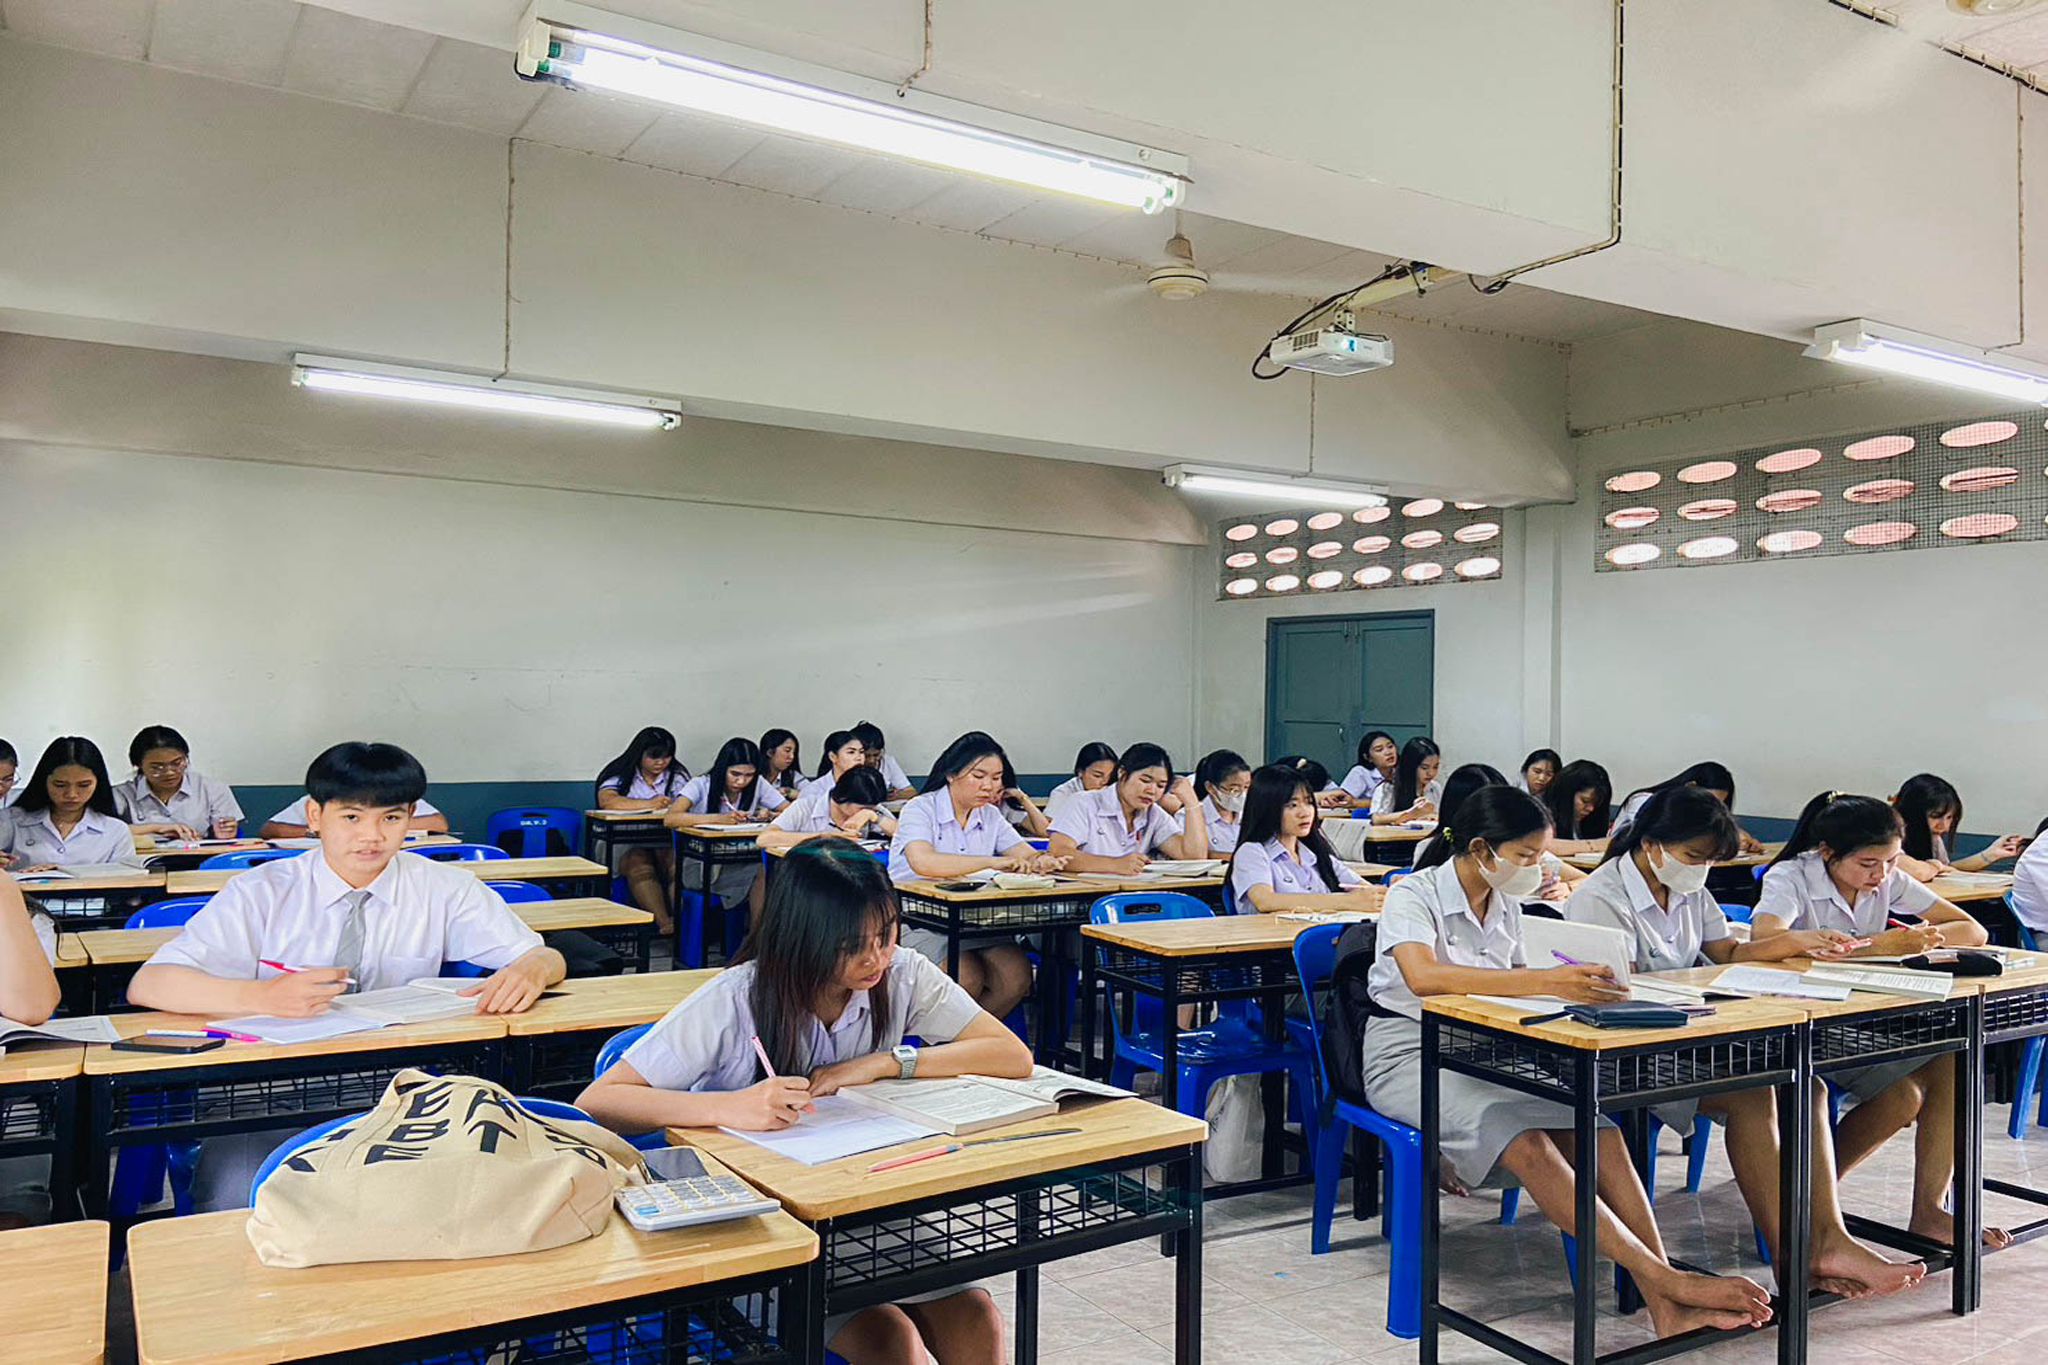
{"label": "wooden desktop surface under the canvas tote bag and calculator", "polygon": [[[143,1365],[268,1365],[369,1351],[778,1271],[817,1257],[817,1234],[788,1214],[670,1232],[639,1232],[614,1216],[594,1238],[516,1257],[276,1269],[256,1259],[246,1224],[248,1209],[229,1209],[129,1232]],[[100,1228],[94,1273],[104,1281]]]}

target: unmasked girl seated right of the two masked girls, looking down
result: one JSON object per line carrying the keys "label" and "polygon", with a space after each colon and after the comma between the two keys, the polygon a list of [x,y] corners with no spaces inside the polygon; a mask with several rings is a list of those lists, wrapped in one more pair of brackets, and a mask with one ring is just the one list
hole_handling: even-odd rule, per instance
{"label": "unmasked girl seated right of the two masked girls, looking down", "polygon": [[[1898,812],[1876,796],[1815,796],[1763,874],[1751,939],[1835,929],[1853,935],[1870,954],[1985,943],[1982,925],[1898,870]],[[1862,1101],[1835,1130],[1841,1173],[1849,1175],[1892,1134],[1917,1124],[1909,1228],[1948,1242],[1954,1224],[1944,1201],[1954,1177],[1956,1058],[1880,1062],[1831,1078]],[[2003,1228],[1985,1228],[1987,1246],[2011,1240]]]}

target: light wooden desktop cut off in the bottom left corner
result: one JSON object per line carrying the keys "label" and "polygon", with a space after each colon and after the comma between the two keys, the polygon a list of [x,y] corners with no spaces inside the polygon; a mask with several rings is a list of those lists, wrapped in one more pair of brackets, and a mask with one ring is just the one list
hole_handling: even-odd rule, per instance
{"label": "light wooden desktop cut off in the bottom left corner", "polygon": [[106,1224],[0,1232],[0,1332],[8,1365],[106,1359]]}

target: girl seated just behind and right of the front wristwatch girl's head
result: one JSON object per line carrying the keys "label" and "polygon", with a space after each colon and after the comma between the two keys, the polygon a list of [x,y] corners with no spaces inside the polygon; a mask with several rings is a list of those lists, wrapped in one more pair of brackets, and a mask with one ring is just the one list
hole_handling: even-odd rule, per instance
{"label": "girl seated just behind and right of the front wristwatch girl's head", "polygon": [[[981,731],[961,735],[932,763],[924,792],[897,817],[897,833],[889,843],[889,878],[948,880],[985,868],[1004,872],[1059,872],[1063,857],[1040,853],[997,814],[1004,794],[1004,772],[1010,755],[993,737]],[[903,925],[903,948],[932,962],[946,960],[946,935],[936,929]],[[961,984],[981,1009],[997,1019],[1030,995],[1030,958],[1016,943],[977,939],[961,945]]]}

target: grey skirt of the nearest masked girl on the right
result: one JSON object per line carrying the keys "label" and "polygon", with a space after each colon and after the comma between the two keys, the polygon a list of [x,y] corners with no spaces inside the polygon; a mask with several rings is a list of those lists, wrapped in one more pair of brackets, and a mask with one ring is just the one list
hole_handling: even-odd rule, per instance
{"label": "grey skirt of the nearest masked girl on the right", "polygon": [[[1366,1019],[1366,1103],[1409,1128],[1421,1128],[1421,1025],[1407,1017]],[[1571,1130],[1569,1105],[1509,1091],[1454,1070],[1438,1072],[1438,1146],[1444,1166],[1466,1189],[1503,1189],[1516,1179],[1499,1169],[1501,1152],[1534,1130]],[[1614,1128],[1606,1117],[1602,1128]]]}

